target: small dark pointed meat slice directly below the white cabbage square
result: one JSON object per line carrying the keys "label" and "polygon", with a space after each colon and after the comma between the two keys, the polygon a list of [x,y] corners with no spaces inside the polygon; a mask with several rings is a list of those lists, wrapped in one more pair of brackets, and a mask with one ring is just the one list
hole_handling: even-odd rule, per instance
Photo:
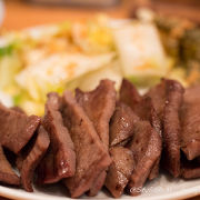
{"label": "small dark pointed meat slice directly below the white cabbage square", "polygon": [[120,101],[134,110],[136,104],[140,102],[141,97],[137,88],[127,79],[122,80],[120,88]]}

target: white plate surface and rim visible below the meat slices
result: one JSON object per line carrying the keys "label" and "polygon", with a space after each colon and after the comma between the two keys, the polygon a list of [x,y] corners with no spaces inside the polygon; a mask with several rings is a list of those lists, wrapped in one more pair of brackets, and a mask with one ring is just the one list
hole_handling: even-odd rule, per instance
{"label": "white plate surface and rim visible below the meat slices", "polygon": [[[148,182],[142,194],[138,197],[130,197],[123,194],[121,199],[134,200],[170,200],[170,199],[186,199],[200,194],[200,180],[184,181],[181,179],[172,179],[168,176],[160,174],[153,181]],[[70,199],[66,188],[61,184],[47,186],[44,188],[36,188],[34,192],[29,193],[22,189],[14,189],[9,187],[0,187],[0,196],[10,199],[20,200],[64,200]],[[108,191],[103,190],[94,198],[82,197],[83,199],[112,199]]]}

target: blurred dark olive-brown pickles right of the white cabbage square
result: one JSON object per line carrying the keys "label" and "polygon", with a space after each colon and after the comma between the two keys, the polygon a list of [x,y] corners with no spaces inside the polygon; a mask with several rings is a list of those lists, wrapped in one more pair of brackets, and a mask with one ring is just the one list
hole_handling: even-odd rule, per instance
{"label": "blurred dark olive-brown pickles right of the white cabbage square", "polygon": [[154,22],[164,50],[176,66],[171,78],[179,80],[180,77],[184,77],[184,81],[189,86],[199,82],[199,26],[187,19],[161,16],[156,17]]}

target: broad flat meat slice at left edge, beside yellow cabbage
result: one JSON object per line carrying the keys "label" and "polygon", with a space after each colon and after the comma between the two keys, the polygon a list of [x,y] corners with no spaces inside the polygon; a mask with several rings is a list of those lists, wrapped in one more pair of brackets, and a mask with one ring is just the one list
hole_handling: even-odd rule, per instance
{"label": "broad flat meat slice at left edge, beside yellow cabbage", "polygon": [[26,116],[0,104],[0,144],[14,153],[28,143],[40,123],[37,116]]}

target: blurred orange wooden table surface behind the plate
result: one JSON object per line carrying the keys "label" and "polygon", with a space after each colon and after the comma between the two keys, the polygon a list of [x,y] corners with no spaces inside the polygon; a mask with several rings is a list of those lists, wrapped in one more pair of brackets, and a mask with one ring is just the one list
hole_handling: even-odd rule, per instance
{"label": "blurred orange wooden table surface behind the plate", "polygon": [[[112,18],[129,18],[131,0],[122,0],[110,8],[77,8],[77,7],[44,7],[28,3],[22,0],[4,0],[6,16],[1,29],[19,30],[27,27],[61,22],[63,20],[87,20],[98,13],[106,13]],[[8,200],[0,197],[0,200]],[[200,200],[200,196],[190,200]]]}

